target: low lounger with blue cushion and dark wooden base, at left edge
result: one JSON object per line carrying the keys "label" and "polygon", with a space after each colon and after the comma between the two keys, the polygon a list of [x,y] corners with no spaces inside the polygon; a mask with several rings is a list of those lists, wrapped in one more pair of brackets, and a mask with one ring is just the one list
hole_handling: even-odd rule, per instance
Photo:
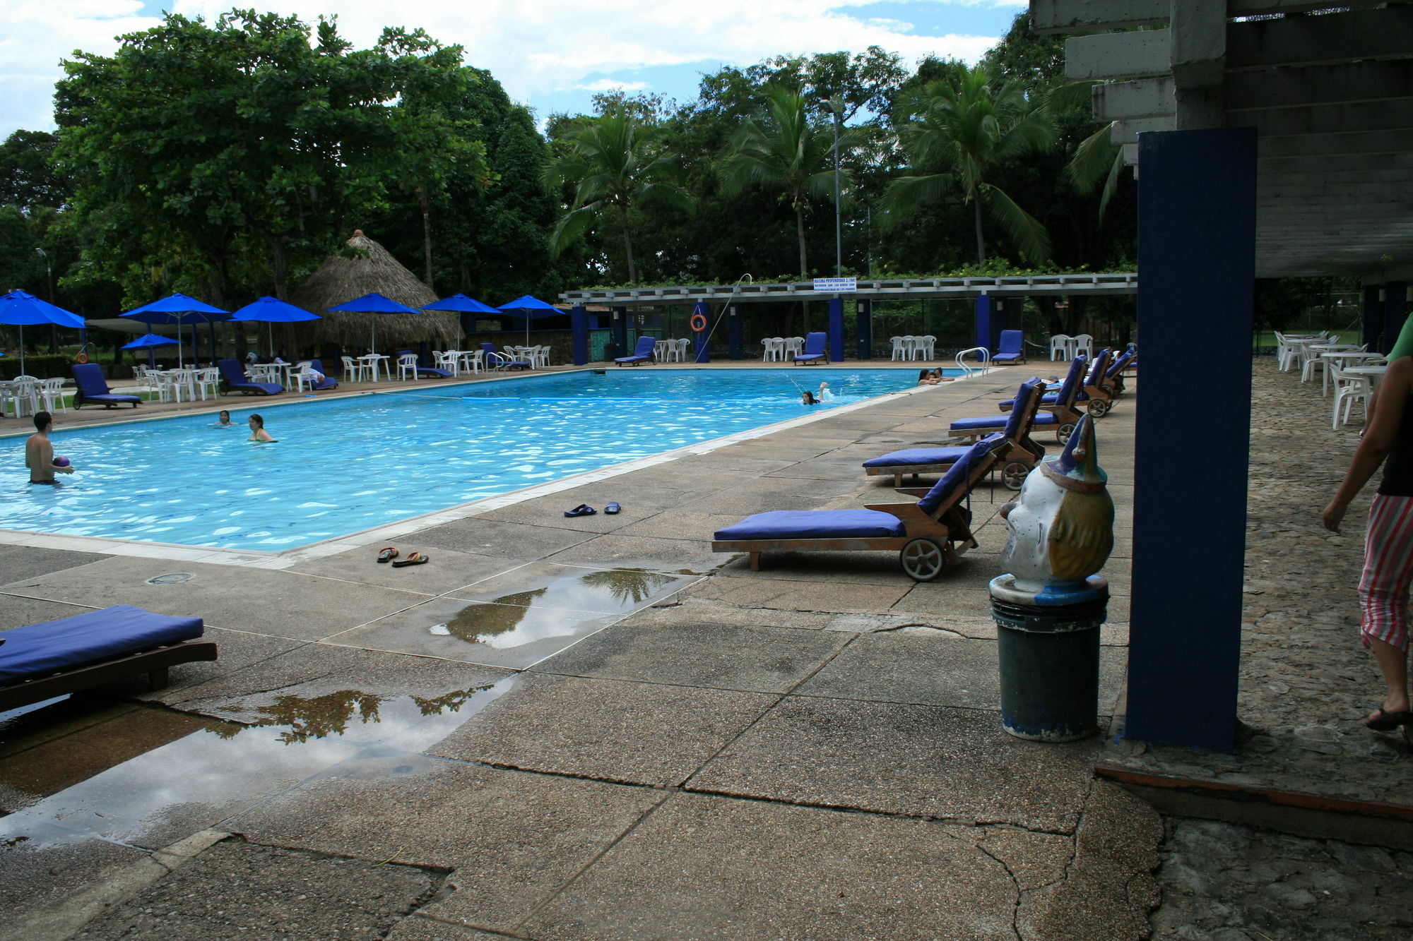
{"label": "low lounger with blue cushion and dark wooden base, at left edge", "polygon": [[203,632],[201,617],[131,605],[0,632],[0,712],[140,673],[161,690],[168,667],[216,658],[216,644],[195,641]]}

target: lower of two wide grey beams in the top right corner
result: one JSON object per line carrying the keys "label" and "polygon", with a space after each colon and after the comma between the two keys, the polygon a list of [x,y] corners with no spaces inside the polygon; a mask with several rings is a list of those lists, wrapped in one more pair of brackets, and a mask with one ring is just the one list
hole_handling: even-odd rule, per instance
{"label": "lower of two wide grey beams in the top right corner", "polygon": [[1226,76],[1225,92],[1228,113],[1413,97],[1413,61],[1236,72]]}

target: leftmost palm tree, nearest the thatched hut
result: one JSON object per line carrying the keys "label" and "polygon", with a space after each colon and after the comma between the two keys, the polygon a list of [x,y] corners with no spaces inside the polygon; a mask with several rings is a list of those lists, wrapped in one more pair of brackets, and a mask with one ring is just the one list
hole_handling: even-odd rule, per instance
{"label": "leftmost palm tree, nearest the thatched hut", "polygon": [[675,155],[658,140],[658,130],[616,110],[589,123],[574,136],[569,153],[545,171],[545,182],[558,189],[575,187],[574,203],[550,235],[550,250],[560,254],[582,237],[602,213],[616,212],[623,227],[627,280],[637,284],[629,213],[639,203],[658,203],[691,211],[691,196],[671,181]]}

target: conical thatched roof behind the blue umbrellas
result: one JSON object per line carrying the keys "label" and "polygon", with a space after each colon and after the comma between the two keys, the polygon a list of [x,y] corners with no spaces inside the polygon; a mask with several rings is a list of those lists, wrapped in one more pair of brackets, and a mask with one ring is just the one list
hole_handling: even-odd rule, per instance
{"label": "conical thatched roof behind the blue umbrellas", "polygon": [[398,264],[387,249],[363,235],[362,229],[353,232],[348,246],[353,249],[355,257],[331,254],[290,298],[295,307],[324,318],[300,324],[300,336],[304,342],[366,346],[374,318],[379,346],[407,346],[418,341],[439,345],[458,339],[461,324],[455,314],[445,311],[329,314],[328,308],[363,297],[369,291],[377,291],[407,307],[420,308],[437,300],[430,287]]}

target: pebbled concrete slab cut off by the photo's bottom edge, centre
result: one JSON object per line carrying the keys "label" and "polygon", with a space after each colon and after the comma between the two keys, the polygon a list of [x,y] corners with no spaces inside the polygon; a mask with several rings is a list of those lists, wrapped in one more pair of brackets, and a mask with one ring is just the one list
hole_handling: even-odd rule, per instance
{"label": "pebbled concrete slab cut off by the photo's bottom edge, centre", "polygon": [[536,913],[555,941],[1010,938],[1005,868],[924,821],[677,794]]}

